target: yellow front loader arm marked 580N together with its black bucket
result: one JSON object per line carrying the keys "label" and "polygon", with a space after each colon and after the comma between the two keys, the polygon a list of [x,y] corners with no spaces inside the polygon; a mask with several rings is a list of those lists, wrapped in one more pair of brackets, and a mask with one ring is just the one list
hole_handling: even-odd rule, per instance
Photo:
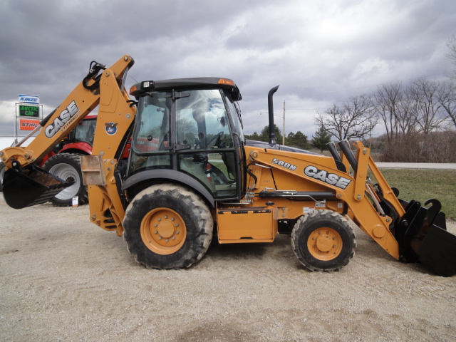
{"label": "yellow front loader arm marked 580N together with its black bucket", "polygon": [[[321,209],[350,217],[395,259],[420,261],[441,276],[456,274],[456,236],[446,231],[440,202],[430,199],[426,208],[399,199],[398,190],[390,187],[367,147],[357,142],[353,154],[348,142],[339,145],[341,155],[333,158],[247,146],[252,165],[262,166],[252,167],[256,172],[252,195],[257,203],[274,199],[269,204],[278,207],[281,219],[292,220],[306,215],[306,207],[319,204]],[[269,172],[265,167],[269,178],[264,177]],[[340,204],[345,209],[339,209]]]}

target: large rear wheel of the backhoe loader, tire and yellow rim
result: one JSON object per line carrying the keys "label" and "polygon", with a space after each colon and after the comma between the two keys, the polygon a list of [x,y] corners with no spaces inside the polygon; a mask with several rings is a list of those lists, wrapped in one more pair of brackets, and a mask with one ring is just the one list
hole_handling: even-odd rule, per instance
{"label": "large rear wheel of the backhoe loader, tire and yellow rim", "polygon": [[153,185],[128,205],[123,237],[138,263],[180,269],[207,252],[213,224],[209,208],[195,193],[179,185]]}

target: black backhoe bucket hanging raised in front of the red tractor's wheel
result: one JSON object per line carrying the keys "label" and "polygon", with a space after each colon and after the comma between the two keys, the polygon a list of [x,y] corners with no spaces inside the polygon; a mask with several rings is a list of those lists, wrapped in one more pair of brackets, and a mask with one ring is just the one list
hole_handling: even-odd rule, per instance
{"label": "black backhoe bucket hanging raised in front of the red tractor's wheel", "polygon": [[22,209],[48,202],[73,183],[73,180],[66,182],[36,166],[22,172],[10,167],[3,178],[3,196],[10,207]]}

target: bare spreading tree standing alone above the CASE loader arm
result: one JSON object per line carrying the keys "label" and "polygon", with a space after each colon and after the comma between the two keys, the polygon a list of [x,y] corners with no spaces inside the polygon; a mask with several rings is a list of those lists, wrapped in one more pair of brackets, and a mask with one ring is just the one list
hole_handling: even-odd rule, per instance
{"label": "bare spreading tree standing alone above the CASE loader arm", "polygon": [[318,113],[315,124],[338,140],[364,139],[377,124],[371,98],[354,96],[340,107],[333,104],[325,113]]}

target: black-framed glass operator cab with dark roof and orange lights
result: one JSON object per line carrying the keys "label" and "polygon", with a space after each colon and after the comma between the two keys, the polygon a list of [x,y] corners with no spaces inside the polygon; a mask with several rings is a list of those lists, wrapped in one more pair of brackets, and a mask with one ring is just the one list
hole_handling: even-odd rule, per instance
{"label": "black-framed glass operator cab with dark roof and orange lights", "polygon": [[203,185],[213,200],[244,196],[244,135],[237,106],[242,97],[233,81],[145,81],[133,86],[130,95],[138,100],[138,111],[128,177],[166,175]]}

